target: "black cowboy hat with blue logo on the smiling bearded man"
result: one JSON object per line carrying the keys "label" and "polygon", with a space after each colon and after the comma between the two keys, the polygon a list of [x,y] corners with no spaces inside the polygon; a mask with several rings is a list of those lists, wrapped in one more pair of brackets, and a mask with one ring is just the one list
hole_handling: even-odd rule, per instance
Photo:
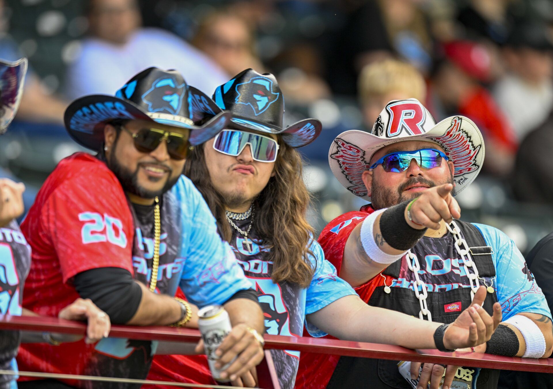
{"label": "black cowboy hat with blue logo on the smiling bearded man", "polygon": [[[91,94],[76,99],[65,110],[65,128],[77,143],[92,150],[101,148],[103,128],[114,119],[151,120],[187,128],[191,145],[204,143],[227,126],[231,114],[220,111],[207,123],[195,125],[193,118],[204,115],[194,112],[189,88],[179,72],[150,67],[131,78],[115,96]],[[194,93],[210,100],[197,89]]]}

